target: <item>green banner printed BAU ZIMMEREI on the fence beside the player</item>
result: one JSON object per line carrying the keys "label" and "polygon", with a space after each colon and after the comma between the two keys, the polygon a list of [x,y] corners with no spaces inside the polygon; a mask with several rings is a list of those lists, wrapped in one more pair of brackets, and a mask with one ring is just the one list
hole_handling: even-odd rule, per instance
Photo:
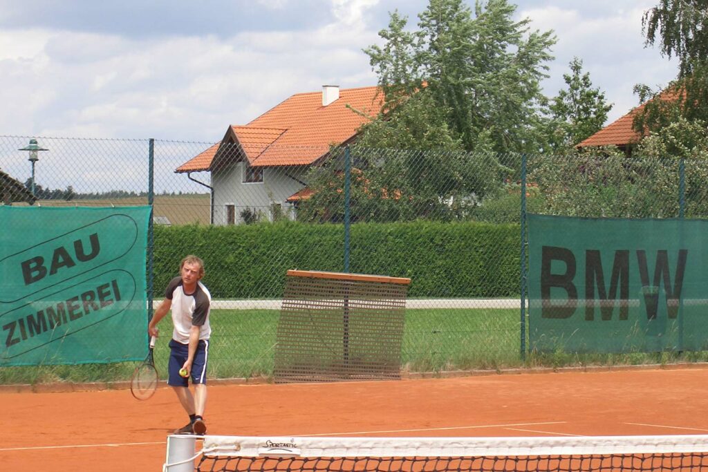
{"label": "green banner printed BAU ZIMMEREI on the fence beside the player", "polygon": [[144,357],[149,215],[0,206],[0,366]]}

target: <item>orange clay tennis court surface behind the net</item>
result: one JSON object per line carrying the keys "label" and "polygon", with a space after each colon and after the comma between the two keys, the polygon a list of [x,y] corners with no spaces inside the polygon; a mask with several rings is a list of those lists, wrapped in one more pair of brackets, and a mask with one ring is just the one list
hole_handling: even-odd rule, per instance
{"label": "orange clay tennis court surface behind the net", "polygon": [[[210,386],[210,434],[565,436],[707,434],[708,367]],[[7,390],[7,389],[6,389]],[[5,471],[160,471],[185,422],[159,388],[0,392]]]}

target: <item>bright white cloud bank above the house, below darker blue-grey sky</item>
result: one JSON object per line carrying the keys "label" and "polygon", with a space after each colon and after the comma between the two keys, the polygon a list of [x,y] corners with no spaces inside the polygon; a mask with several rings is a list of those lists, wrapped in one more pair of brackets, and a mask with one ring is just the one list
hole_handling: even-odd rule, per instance
{"label": "bright white cloud bank above the house, below darker blue-grey sky", "polygon": [[[333,0],[332,23],[314,30],[236,29],[230,38],[21,32],[33,40],[9,47],[9,62],[0,62],[0,70],[20,75],[4,75],[11,86],[0,89],[0,98],[16,115],[0,116],[0,129],[5,134],[218,139],[227,125],[249,122],[292,93],[316,91],[324,83],[375,84],[361,52],[377,40],[363,21],[375,4]],[[286,1],[268,6],[290,8]],[[31,67],[23,67],[23,61]],[[18,103],[23,96],[32,96],[29,106]]]}

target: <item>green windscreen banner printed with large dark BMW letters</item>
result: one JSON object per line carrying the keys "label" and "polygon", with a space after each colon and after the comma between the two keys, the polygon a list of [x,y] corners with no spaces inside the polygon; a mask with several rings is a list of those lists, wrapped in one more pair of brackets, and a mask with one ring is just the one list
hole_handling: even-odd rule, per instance
{"label": "green windscreen banner printed with large dark BMW letters", "polygon": [[539,352],[708,349],[708,220],[530,215]]}

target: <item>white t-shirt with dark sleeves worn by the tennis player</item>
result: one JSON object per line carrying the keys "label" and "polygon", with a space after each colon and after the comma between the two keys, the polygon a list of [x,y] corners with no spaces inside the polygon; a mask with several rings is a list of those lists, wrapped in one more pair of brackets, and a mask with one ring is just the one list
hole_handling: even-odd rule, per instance
{"label": "white t-shirt with dark sleeves worn by the tennis player", "polygon": [[209,326],[209,313],[212,296],[202,282],[197,282],[193,294],[185,294],[181,277],[173,278],[165,297],[172,300],[172,339],[178,343],[189,343],[189,331],[192,326],[199,326],[199,339],[209,339],[212,328]]}

